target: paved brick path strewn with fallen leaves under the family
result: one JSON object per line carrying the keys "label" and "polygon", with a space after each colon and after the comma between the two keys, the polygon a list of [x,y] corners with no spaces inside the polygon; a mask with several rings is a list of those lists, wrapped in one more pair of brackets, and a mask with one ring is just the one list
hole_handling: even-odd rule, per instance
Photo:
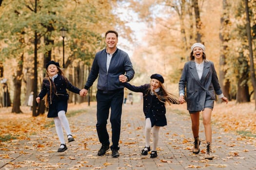
{"label": "paved brick path strewn with fallen leaves under the family", "polygon": [[[122,115],[120,157],[111,152],[97,156],[100,144],[95,128],[96,107],[86,104],[86,113],[68,118],[75,141],[68,150],[57,153],[55,128],[30,141],[12,141],[13,148],[0,151],[0,170],[255,170],[256,146],[250,140],[227,134],[213,125],[213,160],[204,160],[205,142],[200,125],[201,153],[192,154],[191,122],[188,115],[168,112],[168,125],[160,128],[158,158],[141,156],[144,147],[142,106],[125,105]],[[168,109],[169,110],[169,109]],[[108,123],[110,130],[110,123]],[[111,135],[111,134],[110,134]]]}

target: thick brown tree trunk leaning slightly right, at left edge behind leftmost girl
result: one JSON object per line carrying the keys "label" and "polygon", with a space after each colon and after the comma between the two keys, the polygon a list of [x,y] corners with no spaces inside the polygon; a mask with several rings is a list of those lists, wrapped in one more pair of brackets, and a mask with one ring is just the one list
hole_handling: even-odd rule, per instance
{"label": "thick brown tree trunk leaning slightly right, at left edge behind leftmost girl", "polygon": [[20,110],[20,94],[21,94],[21,82],[23,78],[23,57],[24,54],[22,53],[20,58],[18,59],[18,67],[17,67],[17,74],[14,77],[14,98],[13,98],[13,107],[12,107],[12,113],[22,113]]}

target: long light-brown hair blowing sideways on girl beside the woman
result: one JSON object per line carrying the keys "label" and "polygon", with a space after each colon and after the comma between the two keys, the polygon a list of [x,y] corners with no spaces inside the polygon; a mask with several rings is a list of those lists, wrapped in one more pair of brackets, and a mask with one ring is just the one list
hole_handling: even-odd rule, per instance
{"label": "long light-brown hair blowing sideways on girl beside the woman", "polygon": [[[160,95],[155,90],[152,90],[153,93],[158,97],[159,101],[163,103],[167,102],[170,105],[179,104],[177,96],[172,93],[169,93],[160,81],[159,81],[159,84],[160,84],[160,93],[159,93]],[[148,95],[150,92],[151,92],[151,83],[146,95]]]}

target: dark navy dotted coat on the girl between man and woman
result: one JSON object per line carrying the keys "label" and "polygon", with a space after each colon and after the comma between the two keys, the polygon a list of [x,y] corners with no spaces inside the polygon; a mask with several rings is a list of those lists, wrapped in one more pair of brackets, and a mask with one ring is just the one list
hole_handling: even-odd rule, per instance
{"label": "dark navy dotted coat on the girl between man and woman", "polygon": [[[129,83],[123,84],[126,88],[134,92],[143,93],[143,112],[145,118],[150,118],[151,126],[165,126],[167,120],[165,117],[166,108],[165,103],[160,102],[156,95],[150,94],[150,84],[134,86]],[[158,95],[161,95],[161,89],[158,91]]]}

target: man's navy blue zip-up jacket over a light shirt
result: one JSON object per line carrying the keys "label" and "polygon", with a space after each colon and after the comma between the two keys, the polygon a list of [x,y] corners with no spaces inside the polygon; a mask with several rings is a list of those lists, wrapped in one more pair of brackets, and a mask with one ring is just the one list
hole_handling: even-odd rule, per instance
{"label": "man's navy blue zip-up jacket over a light shirt", "polygon": [[117,49],[112,56],[109,69],[107,71],[107,52],[106,49],[98,51],[95,55],[91,71],[89,73],[87,82],[84,86],[89,89],[98,77],[98,90],[103,93],[123,88],[122,83],[119,81],[119,75],[125,74],[130,81],[134,77],[134,69],[129,58],[129,55]]}

